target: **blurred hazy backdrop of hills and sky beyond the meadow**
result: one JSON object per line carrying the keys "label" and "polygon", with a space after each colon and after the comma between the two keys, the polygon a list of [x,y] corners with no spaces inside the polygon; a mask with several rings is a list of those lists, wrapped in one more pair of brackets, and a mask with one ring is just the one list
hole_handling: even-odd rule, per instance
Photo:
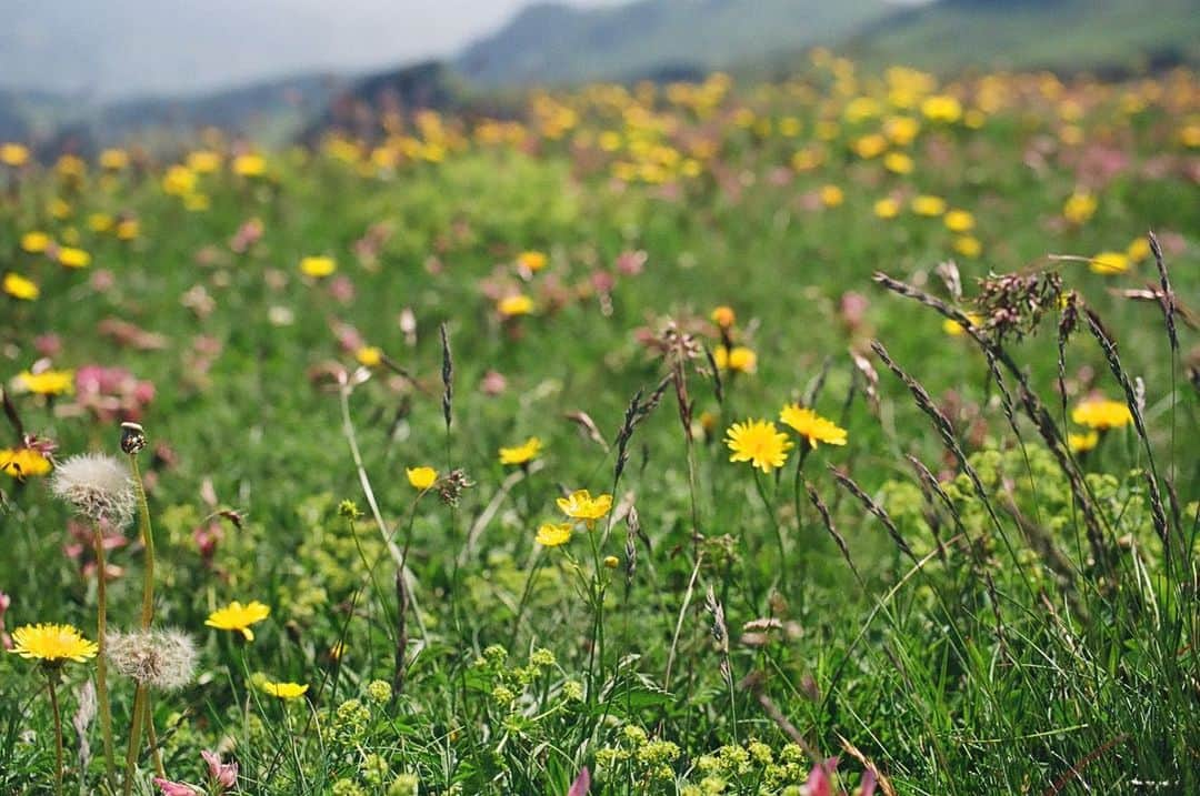
{"label": "blurred hazy backdrop of hills and sky beyond the meadow", "polygon": [[1200,61],[1200,0],[16,0],[0,140],[86,153],[204,126],[286,144],[383,98],[503,116],[587,80],[782,77],[812,47],[943,76]]}

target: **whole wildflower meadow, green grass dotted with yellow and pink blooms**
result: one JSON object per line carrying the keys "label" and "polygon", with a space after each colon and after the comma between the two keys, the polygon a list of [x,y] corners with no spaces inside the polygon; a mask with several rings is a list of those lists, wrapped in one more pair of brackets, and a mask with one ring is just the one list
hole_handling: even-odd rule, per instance
{"label": "whole wildflower meadow, green grass dotted with yellow and pink blooms", "polygon": [[1200,792],[1200,77],[0,141],[0,794]]}

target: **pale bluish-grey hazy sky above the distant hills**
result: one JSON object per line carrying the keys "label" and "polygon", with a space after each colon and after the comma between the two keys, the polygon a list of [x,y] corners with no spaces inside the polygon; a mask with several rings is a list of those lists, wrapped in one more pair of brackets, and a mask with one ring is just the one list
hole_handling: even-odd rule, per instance
{"label": "pale bluish-grey hazy sky above the distant hills", "polygon": [[[623,0],[568,0],[617,5]],[[456,53],[529,0],[7,0],[0,86],[203,92]]]}

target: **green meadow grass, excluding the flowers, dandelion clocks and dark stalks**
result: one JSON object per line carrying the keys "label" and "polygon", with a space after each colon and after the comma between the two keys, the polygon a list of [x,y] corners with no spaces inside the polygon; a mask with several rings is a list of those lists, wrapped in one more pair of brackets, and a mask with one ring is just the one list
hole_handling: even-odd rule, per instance
{"label": "green meadow grass, excluding the flowers, dandelion clocks and dark stalks", "polygon": [[[239,762],[247,794],[409,792],[403,783],[389,791],[401,773],[416,774],[420,792],[564,794],[583,766],[593,794],[794,794],[812,761],[791,728],[815,753],[841,754],[847,789],[863,765],[841,738],[904,794],[1124,792],[1135,782],[1194,790],[1200,469],[1189,451],[1200,429],[1186,368],[1195,330],[1181,322],[1172,352],[1159,308],[1114,294],[1157,284],[1150,260],[1102,277],[1048,258],[1122,251],[1154,229],[1176,294],[1195,303],[1195,153],[1180,144],[1193,111],[1180,97],[1196,84],[1194,76],[1172,79],[1181,90],[1133,116],[1118,110],[1120,91],[1069,86],[1085,109],[1078,145],[1057,143],[1057,104],[1019,80],[1013,104],[979,129],[925,123],[908,176],[847,152],[877,120],[844,123],[830,143],[811,138],[822,111],[839,113],[842,101],[803,101],[788,86],[739,88],[707,120],[661,104],[679,129],[659,143],[684,152],[690,134],[719,143],[700,176],[678,179],[673,193],[616,186],[612,161],[634,158],[629,151],[604,155],[584,138],[569,146],[536,132],[535,146],[522,151],[470,144],[384,177],[326,155],[270,153],[265,180],[202,176],[211,200],[204,212],[164,195],[156,170],[114,180],[92,173],[78,191],[44,169],[19,180],[6,173],[0,270],[32,278],[42,295],[5,304],[5,384],[38,358],[35,338],[54,333],[62,345],[54,366],[122,366],[156,387],[142,417],[151,447],[140,457],[152,474],[156,622],[185,629],[200,651],[193,685],[154,698],[167,772],[200,783],[199,750],[221,748]],[[860,88],[875,91],[868,80]],[[973,88],[965,91],[970,107]],[[604,129],[628,132],[611,110],[574,102],[593,140]],[[742,105],[756,120],[794,115],[804,132],[738,126]],[[1067,197],[1097,179],[1079,164],[1099,143],[1129,164],[1096,183],[1093,218],[1063,224]],[[803,146],[823,147],[824,163],[776,179]],[[826,183],[842,188],[844,204],[809,200]],[[1079,498],[1019,403],[1014,430],[978,348],[948,336],[934,310],[872,282],[882,270],[949,300],[934,269],[954,257],[954,235],[907,210],[876,218],[874,203],[892,192],[935,193],[974,213],[983,255],[959,258],[962,307],[989,273],[1051,270],[1103,319],[1123,367],[1144,384],[1158,483],[1170,480],[1178,496],[1182,517],[1176,524],[1169,514],[1169,524],[1180,551],[1170,562],[1150,508],[1146,448],[1132,428],[1075,459],[1099,517],[1105,568],[1092,560]],[[70,201],[68,218],[47,213],[54,197]],[[89,231],[96,211],[136,213],[140,237],[126,243]],[[232,252],[230,236],[251,218],[262,221],[262,240]],[[355,241],[380,223],[391,234],[378,260],[360,259]],[[22,252],[19,239],[32,229],[58,240],[74,229],[92,254],[90,271]],[[526,249],[550,255],[528,284],[511,267]],[[638,276],[614,270],[629,251],[647,255]],[[300,259],[322,253],[337,259],[353,297],[338,298],[331,281],[301,277]],[[102,270],[113,277],[108,289],[97,287]],[[601,275],[614,278],[607,298],[596,295]],[[521,285],[536,312],[502,322],[497,284]],[[197,306],[200,288],[211,298],[206,313],[181,303],[186,294]],[[848,294],[866,302],[853,322],[842,309]],[[707,319],[718,304],[737,312],[734,334],[757,352],[757,372],[726,373],[718,391],[703,355],[680,363],[694,441],[668,385],[634,428],[613,489],[626,406],[637,391],[649,399],[673,372],[641,342],[643,330],[661,334],[671,320],[713,348],[719,337]],[[281,324],[284,316],[290,322]],[[161,333],[164,345],[118,345],[97,332],[109,318]],[[1079,430],[1056,394],[1057,318],[1051,302],[1036,331],[1003,348],[1058,428]],[[449,434],[443,324],[452,350]],[[388,533],[401,548],[410,538],[403,611],[338,390],[323,378],[334,366],[354,368],[338,344],[342,325],[407,374],[377,368],[347,398]],[[982,495],[870,352],[871,339],[947,414]],[[856,375],[851,348],[878,372],[877,400]],[[1086,328],[1066,355],[1068,405],[1093,390],[1122,397]],[[506,382],[494,396],[482,390],[493,370]],[[1014,398],[1018,373],[1003,373]],[[803,476],[854,571],[808,496],[794,501],[796,451],[760,492],[721,441],[732,422],[774,418],[785,402],[805,397],[848,430],[845,447],[809,453]],[[68,411],[70,398],[14,391],[12,402],[28,430],[58,442],[60,457],[118,452],[115,421]],[[577,411],[604,444],[566,417]],[[514,476],[497,450],[529,435],[545,442],[541,466]],[[923,494],[905,454],[935,474],[948,503]],[[404,474],[416,465],[443,475],[461,468],[473,486],[457,506],[436,493],[418,500]],[[829,466],[886,511],[911,556]],[[562,519],[556,498],[583,487],[613,493],[622,515],[636,506],[641,535],[628,539],[623,519],[604,519],[539,551],[538,525]],[[4,492],[6,627],[67,621],[95,638],[94,579],[62,551],[67,508],[41,478],[10,478]],[[236,511],[241,525],[215,515],[220,509]],[[193,532],[214,524],[223,536],[205,560]],[[140,599],[144,555],[133,529],[128,537],[109,555],[125,569],[110,585],[116,628],[136,623]],[[602,562],[608,555],[613,569]],[[272,609],[252,644],[204,627],[230,599]],[[370,683],[396,674],[400,616],[403,688],[388,699]],[[760,644],[761,631],[746,623],[764,620],[779,627]],[[330,656],[338,643],[340,661]],[[67,717],[92,671],[65,670]],[[282,702],[256,687],[256,673],[310,691]],[[112,680],[124,750],[133,688]],[[54,744],[44,679],[13,655],[0,657],[0,791],[47,792]],[[80,783],[101,788],[95,722],[88,737],[80,773],[68,726],[72,792]],[[151,792],[151,773],[143,755],[138,792]]]}

